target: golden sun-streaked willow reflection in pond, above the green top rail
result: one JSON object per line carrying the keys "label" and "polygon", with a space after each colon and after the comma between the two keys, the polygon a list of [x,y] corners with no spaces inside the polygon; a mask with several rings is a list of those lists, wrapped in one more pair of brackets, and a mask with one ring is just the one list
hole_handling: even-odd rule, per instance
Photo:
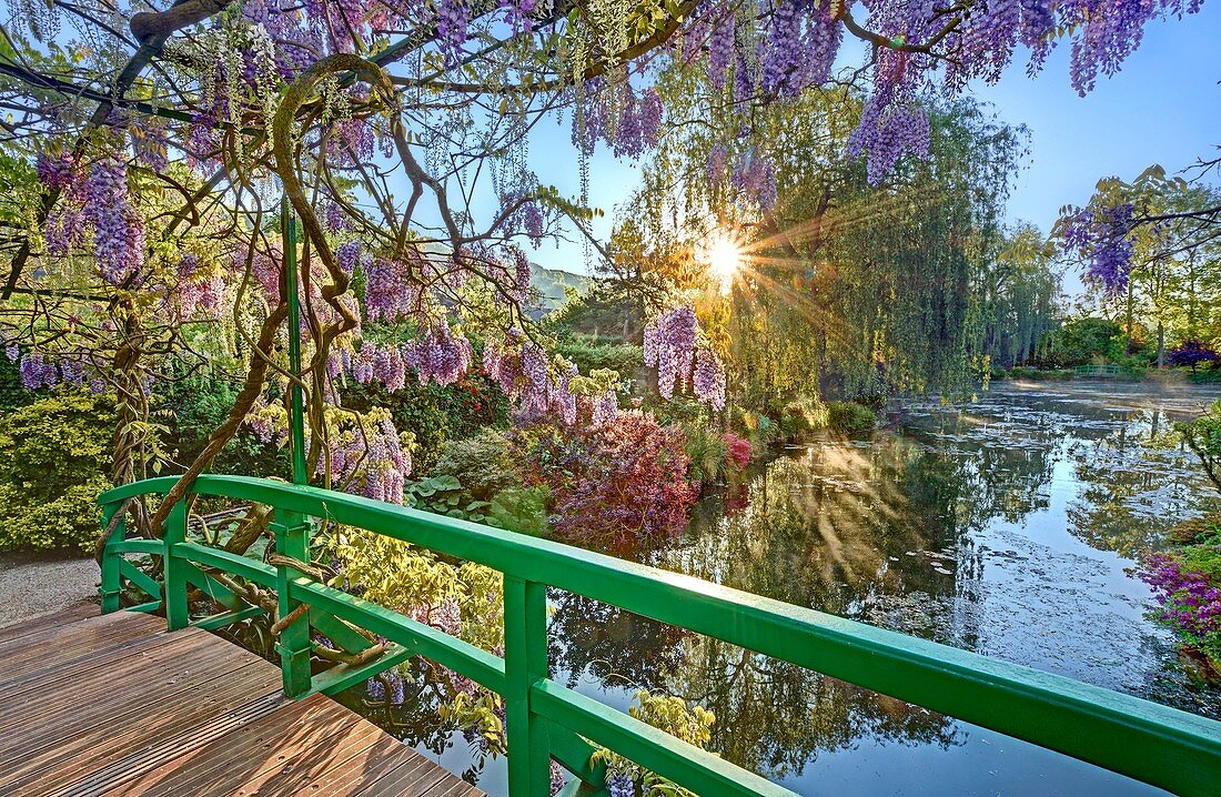
{"label": "golden sun-streaked willow reflection in pond, above the green top rail", "polygon": [[851,618],[894,596],[972,599],[983,564],[967,532],[984,493],[966,459],[895,436],[812,447],[769,463],[746,508],[657,564]]}

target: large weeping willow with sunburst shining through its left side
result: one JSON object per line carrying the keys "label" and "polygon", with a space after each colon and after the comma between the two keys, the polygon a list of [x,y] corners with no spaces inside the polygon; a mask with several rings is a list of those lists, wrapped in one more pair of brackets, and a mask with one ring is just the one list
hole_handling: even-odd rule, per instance
{"label": "large weeping willow with sunburst shining through its left side", "polygon": [[[689,262],[665,256],[651,273],[630,275],[702,289],[702,320],[722,333],[740,403],[955,392],[969,382],[983,364],[980,286],[1004,249],[1023,128],[969,100],[933,105],[928,156],[901,157],[875,183],[850,157],[862,112],[850,88],[759,106],[742,121],[733,109],[718,114],[683,72],[661,87],[691,123],[645,170],[619,238],[637,255],[640,239],[697,261],[720,238],[742,251],[733,279],[706,266],[701,283]],[[767,168],[762,153],[747,151],[726,170],[719,131],[746,123],[770,142]]]}

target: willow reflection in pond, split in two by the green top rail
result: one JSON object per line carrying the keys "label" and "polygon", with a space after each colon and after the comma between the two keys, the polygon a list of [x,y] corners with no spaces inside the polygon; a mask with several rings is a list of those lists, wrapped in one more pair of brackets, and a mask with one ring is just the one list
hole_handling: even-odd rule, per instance
{"label": "willow reflection in pond, split in two by the green top rail", "polygon": [[[958,470],[950,458],[888,439],[778,459],[750,483],[748,503],[734,515],[713,513],[705,531],[645,558],[845,616],[869,618],[888,596],[905,594],[951,598],[939,605],[952,615],[956,579],[937,568],[957,566],[968,581],[980,569],[977,555],[957,553],[967,548],[958,544],[954,509],[962,497]],[[923,553],[945,548],[957,558]],[[552,657],[570,685],[593,674],[609,686],[662,690],[703,705],[717,714],[714,749],[747,768],[799,773],[818,751],[862,737],[955,743],[951,721],[924,709],[585,598],[552,598]]]}

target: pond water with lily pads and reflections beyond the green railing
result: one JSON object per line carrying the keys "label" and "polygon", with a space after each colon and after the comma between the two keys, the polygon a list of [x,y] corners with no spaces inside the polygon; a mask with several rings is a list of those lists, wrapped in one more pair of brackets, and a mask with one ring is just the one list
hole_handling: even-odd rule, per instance
{"label": "pond water with lily pads and reflections beyond the green railing", "polygon": [[[1172,424],[1221,391],[1005,383],[908,406],[869,439],[789,447],[697,508],[648,564],[1221,716],[1129,569],[1214,493]],[[805,795],[1150,795],[1142,784],[569,594],[553,677],[717,715],[711,747]],[[460,771],[458,736],[433,758]],[[503,759],[479,784],[503,793]]]}

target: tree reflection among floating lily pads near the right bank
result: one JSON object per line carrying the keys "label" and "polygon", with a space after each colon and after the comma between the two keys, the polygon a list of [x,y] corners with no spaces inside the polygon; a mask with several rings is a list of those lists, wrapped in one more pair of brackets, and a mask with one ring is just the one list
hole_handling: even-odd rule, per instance
{"label": "tree reflection among floating lily pads near the right bank", "polygon": [[1165,546],[1166,528],[1198,514],[1210,492],[1160,409],[1142,410],[1105,437],[1070,447],[1081,493],[1068,507],[1073,536],[1136,559]]}

